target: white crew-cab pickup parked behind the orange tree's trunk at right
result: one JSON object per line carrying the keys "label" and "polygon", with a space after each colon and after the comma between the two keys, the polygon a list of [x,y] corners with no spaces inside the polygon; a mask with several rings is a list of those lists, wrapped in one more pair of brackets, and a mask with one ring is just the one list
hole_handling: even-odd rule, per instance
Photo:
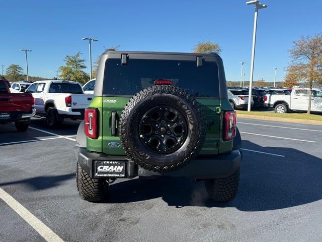
{"label": "white crew-cab pickup parked behind the orange tree's trunk at right", "polygon": [[[290,110],[307,111],[308,88],[294,88],[291,95],[267,94],[265,106],[273,107],[275,112],[283,113]],[[322,89],[312,89],[311,111],[322,112]]]}

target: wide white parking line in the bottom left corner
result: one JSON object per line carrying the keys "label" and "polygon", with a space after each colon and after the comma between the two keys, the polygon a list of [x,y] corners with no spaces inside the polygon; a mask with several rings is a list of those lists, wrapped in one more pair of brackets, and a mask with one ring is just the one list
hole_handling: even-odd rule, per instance
{"label": "wide white parking line in the bottom left corner", "polygon": [[46,241],[63,241],[57,234],[55,234],[49,227],[41,222],[35,215],[29,212],[16,199],[10,196],[5,190],[0,188],[0,198],[4,200],[16,213],[19,214],[30,226],[32,226]]}

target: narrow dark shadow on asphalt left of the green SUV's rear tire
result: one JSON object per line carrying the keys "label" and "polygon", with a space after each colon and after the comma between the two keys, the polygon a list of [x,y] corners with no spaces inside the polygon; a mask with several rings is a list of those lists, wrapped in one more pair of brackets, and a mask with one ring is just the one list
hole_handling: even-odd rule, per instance
{"label": "narrow dark shadow on asphalt left of the green SUV's rear tire", "polygon": [[75,173],[69,173],[64,175],[46,175],[46,176],[36,176],[27,179],[10,181],[8,183],[0,183],[0,187],[10,186],[16,184],[24,184],[27,185],[30,190],[44,190],[53,187],[59,186],[63,181],[74,179]]}

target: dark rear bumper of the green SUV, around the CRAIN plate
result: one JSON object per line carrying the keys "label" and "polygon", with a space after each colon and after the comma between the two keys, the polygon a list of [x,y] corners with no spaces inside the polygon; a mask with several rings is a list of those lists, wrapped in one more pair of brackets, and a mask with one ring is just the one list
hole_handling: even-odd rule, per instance
{"label": "dark rear bumper of the green SUV, around the CRAIN plate", "polygon": [[125,172],[125,177],[122,178],[133,178],[135,176],[185,176],[195,179],[228,177],[239,168],[241,161],[241,154],[239,150],[233,150],[228,154],[199,156],[190,164],[179,170],[160,174],[137,166],[134,161],[124,155],[109,156],[104,153],[92,153],[87,151],[86,148],[77,148],[75,155],[79,165],[88,174],[90,174],[91,178],[95,178],[94,166],[96,160],[125,161],[127,163],[127,169]]}

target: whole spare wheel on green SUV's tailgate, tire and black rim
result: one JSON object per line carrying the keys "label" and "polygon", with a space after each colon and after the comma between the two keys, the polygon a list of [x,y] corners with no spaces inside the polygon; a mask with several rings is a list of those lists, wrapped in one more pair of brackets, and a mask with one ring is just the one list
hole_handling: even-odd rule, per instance
{"label": "whole spare wheel on green SUV's tailgate, tire and black rim", "polygon": [[135,94],[122,111],[119,136],[126,154],[159,173],[193,160],[206,137],[205,114],[189,93],[157,85]]}

